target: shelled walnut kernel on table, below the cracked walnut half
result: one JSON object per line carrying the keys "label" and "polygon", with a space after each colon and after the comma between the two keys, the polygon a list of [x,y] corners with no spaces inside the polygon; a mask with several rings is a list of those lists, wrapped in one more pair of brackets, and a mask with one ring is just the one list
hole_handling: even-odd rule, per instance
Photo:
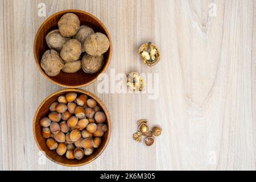
{"label": "shelled walnut kernel on table, below the cracked walnut half", "polygon": [[131,72],[127,76],[127,86],[134,91],[143,91],[146,89],[146,82],[139,73]]}

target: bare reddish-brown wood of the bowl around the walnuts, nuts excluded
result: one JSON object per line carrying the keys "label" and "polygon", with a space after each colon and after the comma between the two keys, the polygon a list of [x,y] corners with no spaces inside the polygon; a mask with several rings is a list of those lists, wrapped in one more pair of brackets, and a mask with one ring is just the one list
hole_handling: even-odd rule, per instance
{"label": "bare reddish-brown wood of the bowl around the walnuts, nuts excluded", "polygon": [[[62,15],[65,13],[74,13],[76,14],[79,19],[80,19],[80,25],[87,25],[93,28],[95,32],[101,32],[102,34],[105,34],[108,36],[110,46],[109,50],[104,53],[104,65],[98,71],[97,73],[94,74],[88,74],[82,71],[80,69],[76,73],[65,73],[61,71],[59,75],[50,77],[46,75],[44,70],[40,66],[40,60],[42,59],[42,55],[44,52],[46,52],[49,47],[47,46],[46,43],[46,35],[48,34],[49,31],[57,29],[57,22],[61,18]],[[53,14],[50,16],[47,20],[44,21],[44,23],[40,26],[38,32],[36,33],[35,40],[34,40],[34,57],[36,61],[36,65],[38,65],[38,68],[40,72],[43,73],[44,76],[53,83],[64,86],[67,88],[79,88],[82,86],[86,86],[91,84],[92,82],[97,80],[97,76],[100,75],[100,73],[104,73],[106,68],[108,68],[108,65],[110,63],[110,59],[112,56],[112,42],[110,39],[110,35],[104,24],[97,19],[95,16],[86,13],[85,11],[80,11],[80,10],[64,10],[60,11],[56,14]]]}

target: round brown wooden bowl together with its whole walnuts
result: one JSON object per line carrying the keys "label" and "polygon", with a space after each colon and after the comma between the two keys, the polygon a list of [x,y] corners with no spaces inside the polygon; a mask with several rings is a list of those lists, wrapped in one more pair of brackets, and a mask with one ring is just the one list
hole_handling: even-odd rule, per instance
{"label": "round brown wooden bowl together with its whole walnuts", "polygon": [[34,40],[34,57],[40,72],[66,88],[96,81],[108,68],[111,56],[108,30],[95,16],[81,10],[64,10],[49,16]]}

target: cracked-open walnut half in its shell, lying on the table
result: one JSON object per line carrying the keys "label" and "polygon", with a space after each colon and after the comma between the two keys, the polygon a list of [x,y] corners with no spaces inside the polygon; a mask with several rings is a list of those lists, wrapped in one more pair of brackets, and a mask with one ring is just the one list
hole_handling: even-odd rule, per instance
{"label": "cracked-open walnut half in its shell, lying on the table", "polygon": [[141,55],[144,63],[150,67],[160,60],[159,49],[151,42],[142,44],[141,47],[139,47],[138,53]]}

